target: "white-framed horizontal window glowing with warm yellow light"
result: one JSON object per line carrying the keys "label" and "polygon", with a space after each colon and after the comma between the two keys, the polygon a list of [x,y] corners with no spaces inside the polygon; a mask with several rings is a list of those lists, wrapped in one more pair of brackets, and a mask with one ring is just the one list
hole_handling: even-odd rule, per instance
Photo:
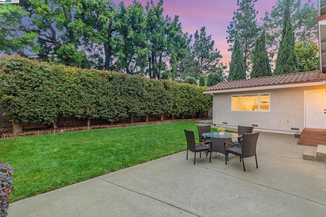
{"label": "white-framed horizontal window glowing with warm yellow light", "polygon": [[232,111],[269,111],[269,93],[231,96]]}

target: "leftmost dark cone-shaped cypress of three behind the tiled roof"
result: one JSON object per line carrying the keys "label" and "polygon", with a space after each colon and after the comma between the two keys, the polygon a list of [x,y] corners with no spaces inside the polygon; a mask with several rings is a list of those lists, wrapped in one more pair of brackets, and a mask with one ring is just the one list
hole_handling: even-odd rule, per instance
{"label": "leftmost dark cone-shaped cypress of three behind the tiled roof", "polygon": [[243,55],[242,55],[240,41],[238,38],[235,38],[233,49],[232,49],[230,72],[229,72],[228,80],[240,80],[240,79],[246,79],[246,77],[244,76],[243,73]]}

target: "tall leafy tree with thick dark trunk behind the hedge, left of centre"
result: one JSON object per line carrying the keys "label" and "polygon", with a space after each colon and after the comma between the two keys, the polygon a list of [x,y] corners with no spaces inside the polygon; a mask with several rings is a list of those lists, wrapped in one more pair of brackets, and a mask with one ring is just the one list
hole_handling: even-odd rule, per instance
{"label": "tall leafy tree with thick dark trunk behind the hedge, left of centre", "polygon": [[83,36],[85,49],[91,53],[90,58],[96,68],[112,69],[113,33],[118,30],[115,26],[115,5],[110,0],[78,2],[75,15],[78,25],[74,26]]}

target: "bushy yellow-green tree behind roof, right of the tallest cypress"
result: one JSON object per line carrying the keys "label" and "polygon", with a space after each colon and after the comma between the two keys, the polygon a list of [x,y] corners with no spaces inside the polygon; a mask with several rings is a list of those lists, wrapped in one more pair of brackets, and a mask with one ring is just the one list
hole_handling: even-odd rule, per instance
{"label": "bushy yellow-green tree behind roof, right of the tallest cypress", "polygon": [[308,72],[319,69],[318,45],[308,42],[299,42],[295,44],[295,52],[299,63],[299,72]]}

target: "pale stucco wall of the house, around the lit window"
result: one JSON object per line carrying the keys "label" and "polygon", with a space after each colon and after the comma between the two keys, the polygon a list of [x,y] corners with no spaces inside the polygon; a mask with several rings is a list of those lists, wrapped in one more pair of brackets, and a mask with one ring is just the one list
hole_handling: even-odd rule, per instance
{"label": "pale stucco wall of the house, around the lit window", "polygon": [[[319,89],[326,89],[326,85],[214,94],[213,124],[232,128],[236,128],[237,125],[258,125],[254,127],[255,130],[293,134],[301,132],[305,127],[304,91]],[[269,112],[231,111],[231,95],[255,93],[270,94]],[[291,130],[291,128],[299,130]]]}

